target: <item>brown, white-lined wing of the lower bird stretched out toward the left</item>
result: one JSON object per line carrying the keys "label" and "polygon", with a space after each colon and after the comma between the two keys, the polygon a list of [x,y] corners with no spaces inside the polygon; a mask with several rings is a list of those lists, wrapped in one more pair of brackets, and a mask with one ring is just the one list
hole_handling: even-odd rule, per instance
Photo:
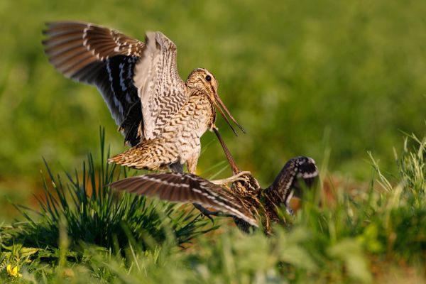
{"label": "brown, white-lined wing of the lower bird stretched out toward the left", "polygon": [[243,219],[252,226],[258,226],[256,218],[239,197],[197,175],[184,173],[139,175],[113,182],[110,186],[138,195],[158,197],[160,200],[201,204]]}

